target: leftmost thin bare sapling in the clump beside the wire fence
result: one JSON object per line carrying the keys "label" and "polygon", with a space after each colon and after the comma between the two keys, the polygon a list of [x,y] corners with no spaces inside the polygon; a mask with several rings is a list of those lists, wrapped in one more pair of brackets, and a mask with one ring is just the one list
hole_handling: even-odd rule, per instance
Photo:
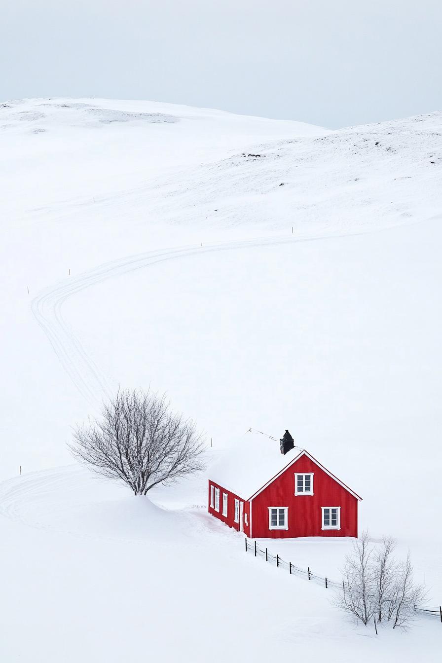
{"label": "leftmost thin bare sapling in the clump beside the wire fence", "polygon": [[339,606],[345,612],[368,624],[376,610],[372,591],[371,560],[373,548],[368,532],[353,542],[353,553],[345,560],[343,592],[339,595]]}

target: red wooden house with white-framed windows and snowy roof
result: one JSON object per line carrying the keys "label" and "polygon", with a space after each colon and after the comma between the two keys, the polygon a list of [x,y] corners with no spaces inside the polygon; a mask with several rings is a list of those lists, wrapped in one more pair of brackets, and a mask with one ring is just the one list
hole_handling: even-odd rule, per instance
{"label": "red wooden house with white-framed windows and snowy roof", "polygon": [[361,497],[286,430],[280,449],[251,430],[215,463],[209,513],[249,538],[358,536]]}

